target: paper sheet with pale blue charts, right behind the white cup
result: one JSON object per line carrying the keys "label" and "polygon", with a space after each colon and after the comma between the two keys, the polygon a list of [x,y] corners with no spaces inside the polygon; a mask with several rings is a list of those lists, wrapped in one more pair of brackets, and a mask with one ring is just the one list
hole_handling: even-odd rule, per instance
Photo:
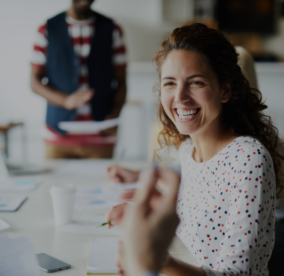
{"label": "paper sheet with pale blue charts, right behind the white cup", "polygon": [[75,208],[78,210],[110,208],[125,201],[120,199],[121,193],[138,187],[138,183],[78,185],[76,186]]}

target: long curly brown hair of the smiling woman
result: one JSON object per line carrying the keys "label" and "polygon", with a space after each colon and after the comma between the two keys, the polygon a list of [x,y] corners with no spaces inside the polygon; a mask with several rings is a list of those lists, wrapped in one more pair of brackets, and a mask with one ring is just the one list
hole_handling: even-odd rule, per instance
{"label": "long curly brown hair of the smiling woman", "polygon": [[[284,189],[282,181],[284,156],[278,130],[273,125],[270,116],[262,113],[267,105],[262,102],[261,92],[250,88],[240,66],[237,64],[238,54],[235,47],[222,32],[210,29],[202,23],[193,23],[176,28],[161,44],[153,57],[158,67],[160,83],[163,61],[173,50],[188,50],[199,53],[202,60],[207,62],[215,72],[220,86],[230,85],[232,96],[228,102],[223,103],[223,123],[232,134],[251,136],[258,139],[267,148],[273,160],[277,196],[280,197]],[[159,96],[161,96],[160,83],[158,85]],[[159,134],[161,147],[174,145],[178,148],[181,142],[189,136],[178,132],[165,113],[161,101],[159,118],[163,124],[163,130]]]}

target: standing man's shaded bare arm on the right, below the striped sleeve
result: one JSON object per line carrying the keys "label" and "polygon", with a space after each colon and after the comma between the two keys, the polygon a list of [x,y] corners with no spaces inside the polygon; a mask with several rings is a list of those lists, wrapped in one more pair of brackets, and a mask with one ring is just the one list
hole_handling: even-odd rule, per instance
{"label": "standing man's shaded bare arm on the right, below the striped sleeve", "polygon": [[125,103],[126,98],[126,73],[125,68],[115,69],[115,79],[118,81],[118,89],[114,96],[114,106],[112,112],[106,117],[106,119],[118,118],[122,110],[122,106]]}

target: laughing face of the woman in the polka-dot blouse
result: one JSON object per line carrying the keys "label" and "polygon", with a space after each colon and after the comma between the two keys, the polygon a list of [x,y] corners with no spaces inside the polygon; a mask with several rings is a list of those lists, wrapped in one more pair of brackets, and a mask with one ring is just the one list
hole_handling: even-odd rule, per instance
{"label": "laughing face of the woman in the polka-dot blouse", "polygon": [[218,130],[222,103],[230,96],[229,86],[220,88],[200,54],[174,50],[165,58],[161,68],[162,106],[181,134],[209,135]]}

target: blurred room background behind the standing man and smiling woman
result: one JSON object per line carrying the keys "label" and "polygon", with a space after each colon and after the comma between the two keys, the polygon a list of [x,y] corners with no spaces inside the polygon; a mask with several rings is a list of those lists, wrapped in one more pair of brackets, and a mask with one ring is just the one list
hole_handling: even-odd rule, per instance
{"label": "blurred room background behind the standing man and smiling woman", "polygon": [[[46,111],[45,100],[32,92],[29,85],[34,37],[37,28],[47,18],[67,10],[70,2],[0,0],[0,125],[6,122],[25,123],[25,157],[33,163],[40,162],[44,157],[41,130]],[[262,12],[263,16],[272,11],[273,26],[270,32],[232,31],[232,26],[226,25],[226,18],[221,15],[230,9],[232,11],[232,7],[235,11],[242,8],[245,2],[249,2],[253,10]],[[155,120],[157,105],[157,95],[152,92],[152,86],[157,82],[152,55],[174,27],[187,21],[202,21],[216,26],[217,20],[223,20],[222,28],[231,35],[233,43],[246,47],[255,55],[255,60],[258,60],[256,69],[259,89],[267,98],[270,115],[276,120],[283,135],[283,6],[282,0],[96,0],[93,9],[115,19],[125,34],[129,104],[122,111],[123,124],[119,141],[120,147],[125,148],[125,158],[147,158],[149,127]],[[240,9],[240,13],[234,15],[236,26],[247,19],[247,15],[242,12]],[[21,160],[20,140],[20,129],[11,130],[11,160]],[[0,141],[1,146],[3,140]]]}

